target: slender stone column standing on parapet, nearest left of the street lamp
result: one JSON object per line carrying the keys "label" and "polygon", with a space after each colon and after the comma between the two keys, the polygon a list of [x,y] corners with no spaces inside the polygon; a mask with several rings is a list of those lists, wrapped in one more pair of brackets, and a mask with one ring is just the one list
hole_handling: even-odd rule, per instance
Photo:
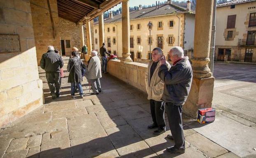
{"label": "slender stone column standing on parapet, nearest left of the street lamp", "polygon": [[129,0],[122,1],[122,58],[121,62],[133,62],[130,58],[130,15]]}

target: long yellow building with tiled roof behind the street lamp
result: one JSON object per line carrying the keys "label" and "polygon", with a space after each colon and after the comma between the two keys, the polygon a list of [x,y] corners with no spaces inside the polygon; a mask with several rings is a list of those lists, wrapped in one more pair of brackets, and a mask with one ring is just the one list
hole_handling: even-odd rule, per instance
{"label": "long yellow building with tiled roof behind the street lamp", "polygon": [[[176,10],[172,13],[172,10]],[[162,14],[170,11],[170,14]],[[156,12],[154,14],[154,12]],[[121,14],[104,20],[106,48],[110,53],[122,56],[122,22]],[[148,23],[153,24],[151,30],[151,51],[160,47],[165,56],[172,46],[181,46],[185,51],[193,49],[195,14],[186,8],[172,4],[130,11],[130,54],[134,62],[147,63],[150,55]],[[94,23],[95,50],[99,50],[98,22]]]}

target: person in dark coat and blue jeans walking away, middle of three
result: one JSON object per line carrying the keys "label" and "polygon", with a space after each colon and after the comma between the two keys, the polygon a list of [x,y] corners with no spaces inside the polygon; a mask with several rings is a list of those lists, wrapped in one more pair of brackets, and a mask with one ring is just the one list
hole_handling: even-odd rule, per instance
{"label": "person in dark coat and blue jeans walking away, middle of three", "polygon": [[85,69],[84,63],[81,61],[80,57],[78,57],[78,52],[73,51],[71,53],[71,58],[69,59],[67,64],[67,71],[69,72],[67,82],[71,83],[72,98],[74,98],[76,84],[79,89],[79,95],[81,96],[81,98],[83,98],[83,89],[81,85],[83,76],[81,73],[81,67]]}

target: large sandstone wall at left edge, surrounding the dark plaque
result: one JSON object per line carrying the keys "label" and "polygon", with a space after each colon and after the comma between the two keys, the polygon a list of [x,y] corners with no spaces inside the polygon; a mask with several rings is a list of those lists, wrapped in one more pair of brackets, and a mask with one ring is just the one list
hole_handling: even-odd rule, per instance
{"label": "large sandstone wall at left edge, surrounding the dark plaque", "polygon": [[21,48],[0,53],[2,127],[42,105],[43,93],[29,0],[1,0],[0,28],[0,34],[18,34]]}

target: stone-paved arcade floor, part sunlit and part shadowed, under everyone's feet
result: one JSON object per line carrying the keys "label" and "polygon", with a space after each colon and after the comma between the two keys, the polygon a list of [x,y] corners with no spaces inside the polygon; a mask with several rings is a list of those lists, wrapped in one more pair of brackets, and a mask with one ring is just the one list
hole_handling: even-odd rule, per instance
{"label": "stone-paved arcade floor, part sunlit and part shadowed, under everyone's feet", "polygon": [[107,74],[101,79],[102,93],[89,95],[84,80],[84,98],[72,100],[67,75],[62,96],[52,100],[40,73],[46,104],[0,130],[0,158],[256,157],[256,126],[223,110],[217,110],[211,124],[184,117],[186,152],[170,154],[165,151],[174,144],[166,138],[169,128],[159,136],[147,129],[152,121],[143,92]]}

